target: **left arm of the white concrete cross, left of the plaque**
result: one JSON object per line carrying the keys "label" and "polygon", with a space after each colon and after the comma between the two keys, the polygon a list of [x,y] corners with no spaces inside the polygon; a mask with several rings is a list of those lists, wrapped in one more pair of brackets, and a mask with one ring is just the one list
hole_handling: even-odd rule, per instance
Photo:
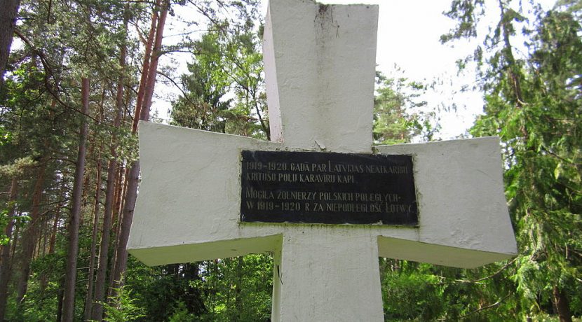
{"label": "left arm of the white concrete cross, left of the plaque", "polygon": [[[280,144],[140,123],[142,181],[128,251],[147,265],[272,251],[277,230],[239,227],[241,150]],[[252,238],[251,238],[252,237]]]}

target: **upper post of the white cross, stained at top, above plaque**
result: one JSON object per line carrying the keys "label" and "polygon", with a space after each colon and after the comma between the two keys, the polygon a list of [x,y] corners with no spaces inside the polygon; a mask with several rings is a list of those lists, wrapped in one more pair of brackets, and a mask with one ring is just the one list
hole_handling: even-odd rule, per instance
{"label": "upper post of the white cross, stained at top, above plaque", "polygon": [[269,3],[263,59],[273,141],[370,153],[377,25],[378,6]]}

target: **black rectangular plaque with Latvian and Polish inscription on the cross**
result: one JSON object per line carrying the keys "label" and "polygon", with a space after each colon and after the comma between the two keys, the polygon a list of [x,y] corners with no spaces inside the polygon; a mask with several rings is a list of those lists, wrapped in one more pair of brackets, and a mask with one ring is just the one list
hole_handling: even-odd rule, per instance
{"label": "black rectangular plaque with Latvian and Polish inscription on the cross", "polygon": [[241,221],[418,225],[412,156],[242,151]]}

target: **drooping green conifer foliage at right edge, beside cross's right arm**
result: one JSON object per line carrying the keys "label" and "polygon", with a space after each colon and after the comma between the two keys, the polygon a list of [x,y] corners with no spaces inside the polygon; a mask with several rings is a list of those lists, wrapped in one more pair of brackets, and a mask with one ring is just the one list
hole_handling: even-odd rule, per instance
{"label": "drooping green conifer foliage at right edge, beside cross's right arm", "polygon": [[[541,16],[531,65],[520,70],[523,102],[511,94],[511,83],[499,83],[472,130],[506,142],[507,197],[521,246],[520,267],[511,277],[522,304],[540,313],[540,298],[551,298],[554,287],[576,294],[572,286],[581,276],[580,31],[569,13]],[[571,311],[581,314],[573,304]]]}

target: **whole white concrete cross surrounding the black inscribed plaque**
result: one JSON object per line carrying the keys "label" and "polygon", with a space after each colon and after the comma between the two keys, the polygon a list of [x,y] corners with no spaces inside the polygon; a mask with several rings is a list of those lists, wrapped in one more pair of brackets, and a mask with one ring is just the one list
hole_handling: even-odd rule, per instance
{"label": "whole white concrete cross surrounding the black inscribed plaque", "polygon": [[[128,249],[147,265],[272,252],[272,321],[384,321],[378,257],[477,267],[517,253],[499,140],[376,146],[377,6],[269,3],[273,141],[140,123]],[[241,223],[241,151],[413,155],[419,225]]]}

